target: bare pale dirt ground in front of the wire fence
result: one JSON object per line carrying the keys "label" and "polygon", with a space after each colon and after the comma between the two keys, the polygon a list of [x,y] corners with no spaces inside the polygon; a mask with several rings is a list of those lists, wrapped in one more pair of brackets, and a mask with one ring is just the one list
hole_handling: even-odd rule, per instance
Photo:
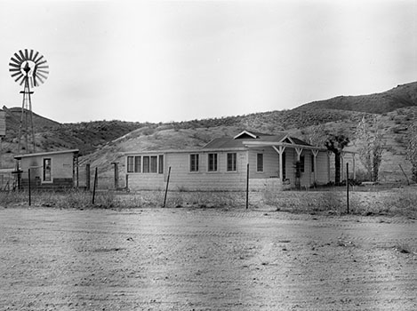
{"label": "bare pale dirt ground in front of the wire fence", "polygon": [[401,218],[0,209],[0,310],[416,310]]}

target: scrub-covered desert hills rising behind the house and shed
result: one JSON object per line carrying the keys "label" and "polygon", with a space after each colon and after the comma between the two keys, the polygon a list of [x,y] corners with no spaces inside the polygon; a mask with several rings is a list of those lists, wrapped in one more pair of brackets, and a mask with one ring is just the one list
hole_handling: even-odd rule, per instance
{"label": "scrub-covered desert hills rising behind the house and shed", "polygon": [[[6,111],[6,137],[3,140],[2,166],[12,165],[16,153],[17,120],[20,108]],[[398,85],[387,92],[362,96],[341,96],[320,100],[299,108],[255,113],[246,116],[227,116],[167,124],[132,123],[123,121],[94,121],[78,124],[59,124],[42,116],[34,116],[36,152],[65,148],[81,151],[80,163],[98,167],[101,176],[111,179],[112,162],[121,164],[124,172],[124,153],[165,148],[198,148],[216,137],[235,135],[243,129],[256,132],[290,132],[304,140],[321,125],[323,134],[344,132],[352,140],[363,116],[376,116],[382,126],[386,152],[381,165],[381,179],[404,179],[398,164],[405,171],[409,124],[417,122],[417,82]]]}

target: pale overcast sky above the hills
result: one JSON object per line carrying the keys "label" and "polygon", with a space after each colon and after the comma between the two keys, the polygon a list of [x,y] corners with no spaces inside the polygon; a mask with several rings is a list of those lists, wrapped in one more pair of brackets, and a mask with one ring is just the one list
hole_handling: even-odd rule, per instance
{"label": "pale overcast sky above the hills", "polygon": [[417,80],[417,1],[0,1],[0,108],[20,49],[50,66],[33,110],[61,123],[290,109]]}

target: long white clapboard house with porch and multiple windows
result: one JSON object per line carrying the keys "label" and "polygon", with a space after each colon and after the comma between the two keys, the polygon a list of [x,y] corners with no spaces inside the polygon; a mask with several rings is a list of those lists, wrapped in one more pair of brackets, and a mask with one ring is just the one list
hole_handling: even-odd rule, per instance
{"label": "long white clapboard house with porch and multiple windows", "polygon": [[[251,191],[310,187],[330,181],[326,149],[282,132],[240,132],[194,150],[156,150],[125,155],[132,190],[170,188],[191,191],[239,191],[249,175]],[[249,167],[249,174],[247,168]]]}

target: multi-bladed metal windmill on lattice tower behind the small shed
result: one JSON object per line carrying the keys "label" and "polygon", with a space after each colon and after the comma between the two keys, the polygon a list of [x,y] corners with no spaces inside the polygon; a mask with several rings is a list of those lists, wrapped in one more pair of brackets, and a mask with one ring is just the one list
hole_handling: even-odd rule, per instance
{"label": "multi-bladed metal windmill on lattice tower behind the small shed", "polygon": [[[32,151],[35,152],[35,132],[33,129],[33,112],[30,90],[43,84],[49,74],[49,66],[44,56],[39,52],[24,49],[15,52],[9,62],[9,71],[15,82],[23,85],[23,100],[21,104],[20,127],[18,136],[18,153],[20,153],[20,138],[25,137],[25,150],[29,152],[29,135],[32,140]],[[29,133],[30,127],[30,133]]]}

